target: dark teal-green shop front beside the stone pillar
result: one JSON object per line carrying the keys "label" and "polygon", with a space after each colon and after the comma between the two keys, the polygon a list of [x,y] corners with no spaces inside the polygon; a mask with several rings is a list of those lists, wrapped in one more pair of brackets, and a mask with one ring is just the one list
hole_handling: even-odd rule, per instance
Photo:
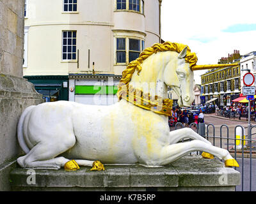
{"label": "dark teal-green shop front beside the stone pillar", "polygon": [[45,102],[68,101],[68,76],[25,76]]}

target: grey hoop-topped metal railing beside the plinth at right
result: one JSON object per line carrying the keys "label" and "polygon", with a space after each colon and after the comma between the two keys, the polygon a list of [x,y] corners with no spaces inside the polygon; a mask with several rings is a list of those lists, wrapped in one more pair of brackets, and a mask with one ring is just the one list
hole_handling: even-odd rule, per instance
{"label": "grey hoop-topped metal railing beside the plinth at right", "polygon": [[[200,127],[205,129],[200,130]],[[182,123],[178,122],[175,124],[175,129],[180,128],[184,128]],[[241,185],[236,187],[236,191],[256,191],[256,140],[253,139],[253,135],[256,135],[256,131],[253,133],[256,126],[250,126],[248,129],[248,127],[244,128],[243,126],[237,125],[234,129],[231,129],[226,124],[223,124],[220,126],[220,135],[218,136],[216,136],[216,130],[218,129],[216,129],[214,124],[204,124],[203,126],[201,124],[198,126],[198,124],[192,123],[189,125],[189,128],[192,128],[199,135],[204,136],[212,145],[227,149],[239,163],[238,168],[234,167],[235,170],[241,173]],[[241,129],[238,131],[238,128]],[[230,131],[233,130],[234,135],[230,134]],[[193,154],[197,155],[201,153],[199,151],[193,152]]]}

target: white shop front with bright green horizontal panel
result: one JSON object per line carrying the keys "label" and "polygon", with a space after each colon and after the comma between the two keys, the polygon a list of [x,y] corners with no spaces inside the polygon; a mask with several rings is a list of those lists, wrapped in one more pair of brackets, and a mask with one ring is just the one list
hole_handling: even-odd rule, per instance
{"label": "white shop front with bright green horizontal panel", "polygon": [[69,101],[87,105],[112,105],[118,101],[120,75],[70,74],[68,77]]}

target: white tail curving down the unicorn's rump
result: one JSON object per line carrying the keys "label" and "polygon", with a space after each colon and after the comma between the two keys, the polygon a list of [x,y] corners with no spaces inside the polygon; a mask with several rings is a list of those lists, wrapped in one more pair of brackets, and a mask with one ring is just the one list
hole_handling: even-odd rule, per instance
{"label": "white tail curving down the unicorn's rump", "polygon": [[28,106],[28,108],[26,108],[24,110],[24,112],[20,115],[20,119],[19,119],[19,123],[18,123],[18,128],[17,128],[17,135],[18,135],[18,141],[20,144],[21,149],[28,154],[29,152],[29,148],[28,145],[26,144],[25,140],[24,140],[24,136],[23,136],[23,122],[24,119],[26,117],[26,115],[30,112],[30,110],[32,108],[34,108],[35,106]]}

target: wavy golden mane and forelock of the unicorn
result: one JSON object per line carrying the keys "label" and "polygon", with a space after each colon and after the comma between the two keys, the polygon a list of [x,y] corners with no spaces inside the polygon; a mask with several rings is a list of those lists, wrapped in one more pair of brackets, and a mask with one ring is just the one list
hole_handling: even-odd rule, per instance
{"label": "wavy golden mane and forelock of the unicorn", "polygon": [[[180,53],[187,45],[183,45],[181,43],[171,43],[170,41],[166,41],[165,43],[155,43],[152,47],[148,47],[143,52],[141,52],[140,56],[134,60],[129,62],[127,68],[122,72],[122,78],[118,84],[118,92],[117,96],[120,98],[119,92],[122,90],[124,85],[128,85],[131,81],[132,75],[135,70],[138,71],[138,75],[140,75],[141,66],[140,64],[147,59],[150,55],[163,52],[163,51],[175,51]],[[195,53],[191,53],[190,48],[188,47],[187,54],[185,57],[185,61],[189,63],[190,68],[194,66],[197,62],[197,57]]]}

